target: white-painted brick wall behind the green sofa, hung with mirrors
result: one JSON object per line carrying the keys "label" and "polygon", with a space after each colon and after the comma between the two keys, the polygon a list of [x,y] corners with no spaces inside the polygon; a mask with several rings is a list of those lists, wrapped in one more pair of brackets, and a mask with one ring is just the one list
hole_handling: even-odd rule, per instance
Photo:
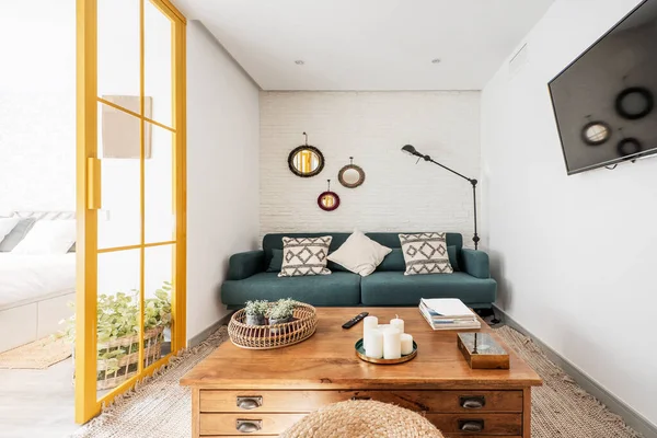
{"label": "white-painted brick wall behind the green sofa, hung with mirrors", "polygon": [[[303,131],[326,160],[311,178],[287,165]],[[471,185],[435,164],[416,165],[400,150],[406,143],[479,178],[480,93],[261,92],[261,234],[443,230],[469,243]],[[337,181],[351,155],[367,175],[355,189]],[[316,205],[327,178],[341,197],[335,211]]]}

